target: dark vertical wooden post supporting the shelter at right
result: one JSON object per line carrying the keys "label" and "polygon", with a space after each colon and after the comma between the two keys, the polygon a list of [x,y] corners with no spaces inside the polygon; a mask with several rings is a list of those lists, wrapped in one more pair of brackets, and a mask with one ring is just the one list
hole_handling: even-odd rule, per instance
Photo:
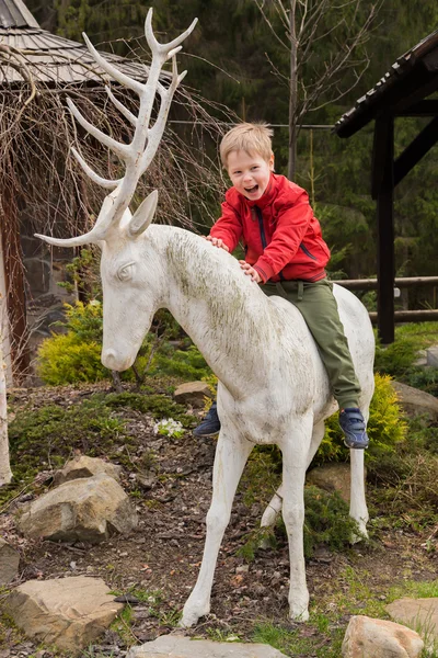
{"label": "dark vertical wooden post supporting the shelter at right", "polygon": [[378,331],[383,343],[394,342],[394,117],[376,120],[372,196],[378,223]]}

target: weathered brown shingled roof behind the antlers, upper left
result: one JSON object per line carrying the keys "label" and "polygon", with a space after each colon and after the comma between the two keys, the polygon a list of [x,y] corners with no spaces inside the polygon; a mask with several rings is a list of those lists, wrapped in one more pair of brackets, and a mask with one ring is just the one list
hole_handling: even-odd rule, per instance
{"label": "weathered brown shingled roof behind the antlers, upper left", "polygon": [[[23,63],[35,81],[50,87],[102,84],[111,80],[84,45],[42,30],[21,0],[0,0],[0,45],[12,49],[15,63]],[[146,65],[108,53],[102,55],[124,73],[147,79]],[[21,82],[20,71],[8,66],[4,58],[0,60],[0,87]]]}

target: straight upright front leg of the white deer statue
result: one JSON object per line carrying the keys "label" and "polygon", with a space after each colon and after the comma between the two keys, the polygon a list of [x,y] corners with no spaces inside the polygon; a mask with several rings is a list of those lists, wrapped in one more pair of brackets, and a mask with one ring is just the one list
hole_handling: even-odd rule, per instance
{"label": "straight upright front leg of the white deer statue", "polygon": [[306,622],[309,619],[309,592],[306,583],[303,547],[304,479],[307,456],[312,434],[312,420],[300,421],[293,435],[284,445],[283,453],[283,519],[289,542],[290,619]]}

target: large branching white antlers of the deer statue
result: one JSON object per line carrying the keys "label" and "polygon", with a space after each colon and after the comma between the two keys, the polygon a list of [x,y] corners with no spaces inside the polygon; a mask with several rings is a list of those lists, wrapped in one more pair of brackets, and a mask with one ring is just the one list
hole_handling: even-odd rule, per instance
{"label": "large branching white antlers of the deer statue", "polygon": [[[151,163],[153,156],[159,147],[165,122],[168,118],[169,110],[171,106],[173,94],[181,81],[186,76],[187,71],[183,71],[178,75],[176,66],[176,54],[182,49],[180,45],[194,30],[197,23],[195,19],[192,25],[183,32],[180,36],[174,38],[168,44],[160,44],[152,31],[152,8],[149,9],[148,15],[145,22],[145,35],[146,41],[152,53],[152,61],[149,69],[149,77],[146,83],[138,82],[132,78],[129,78],[122,71],[119,71],[114,65],[110,64],[91,44],[90,39],[83,34],[84,42],[91,55],[95,61],[112,77],[114,80],[135,91],[140,99],[140,106],[138,116],[135,116],[123,103],[120,103],[112,93],[110,88],[106,88],[106,92],[115,104],[115,106],[124,114],[129,123],[135,127],[134,137],[130,144],[122,144],[106,135],[95,126],[93,126],[78,110],[74,103],[67,99],[67,103],[71,114],[74,116],[77,122],[93,135],[99,141],[107,146],[118,158],[125,162],[126,170],[125,175],[118,180],[105,179],[95,173],[91,167],[85,162],[82,156],[74,148],[71,149],[74,158],[82,167],[84,172],[95,183],[102,188],[113,190],[113,192],[105,198],[99,217],[94,227],[87,234],[70,238],[67,240],[50,238],[47,236],[37,235],[46,242],[50,245],[57,245],[61,247],[76,247],[79,245],[85,245],[90,242],[97,242],[105,238],[105,235],[111,226],[116,226],[120,222],[124,213],[127,211],[128,205],[136,191],[137,183],[141,174],[147,170]],[[169,87],[164,87],[160,82],[160,73],[163,64],[172,58],[172,78]],[[152,127],[149,127],[153,102],[157,95],[160,95],[161,103],[158,117]]]}

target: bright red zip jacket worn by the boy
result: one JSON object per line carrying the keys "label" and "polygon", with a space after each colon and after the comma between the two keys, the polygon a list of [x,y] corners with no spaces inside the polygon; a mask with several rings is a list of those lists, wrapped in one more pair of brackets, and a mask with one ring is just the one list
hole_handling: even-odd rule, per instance
{"label": "bright red zip jacket worn by the boy", "polygon": [[261,198],[249,201],[230,188],[222,216],[210,230],[230,252],[243,238],[245,261],[266,281],[319,281],[325,276],[330,250],[302,188],[273,173]]}

